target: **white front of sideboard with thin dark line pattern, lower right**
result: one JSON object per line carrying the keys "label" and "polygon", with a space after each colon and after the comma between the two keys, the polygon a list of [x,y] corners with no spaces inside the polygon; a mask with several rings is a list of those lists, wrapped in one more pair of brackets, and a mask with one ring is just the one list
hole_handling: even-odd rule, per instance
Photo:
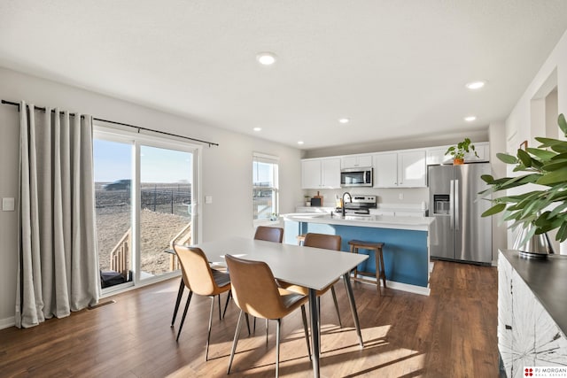
{"label": "white front of sideboard with thin dark line pattern, lower right", "polygon": [[501,253],[497,332],[508,377],[523,377],[524,366],[567,366],[567,338]]}

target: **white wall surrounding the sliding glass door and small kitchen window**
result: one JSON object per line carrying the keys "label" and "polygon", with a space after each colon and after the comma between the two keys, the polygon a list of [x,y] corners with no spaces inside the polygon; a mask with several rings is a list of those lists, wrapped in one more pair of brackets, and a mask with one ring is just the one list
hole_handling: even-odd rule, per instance
{"label": "white wall surrounding the sliding glass door and small kitchen window", "polygon": [[[204,203],[204,196],[213,196],[213,204],[203,204],[202,208],[203,241],[229,235],[252,237],[253,151],[280,158],[280,212],[293,212],[298,199],[303,197],[300,151],[294,148],[3,68],[0,68],[0,98],[14,102],[23,99],[40,106],[59,106],[105,120],[219,143],[219,147],[203,148],[199,201]],[[15,106],[0,105],[0,197],[17,199],[18,120]],[[16,212],[0,212],[0,248],[0,328],[4,328],[13,324],[15,307]]]}

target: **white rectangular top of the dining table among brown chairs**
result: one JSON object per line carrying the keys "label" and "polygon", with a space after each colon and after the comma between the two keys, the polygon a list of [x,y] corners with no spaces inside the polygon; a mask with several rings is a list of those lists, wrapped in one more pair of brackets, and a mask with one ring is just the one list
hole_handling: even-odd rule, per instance
{"label": "white rectangular top of the dining table among brown chairs", "polygon": [[324,289],[346,274],[368,255],[295,244],[272,243],[261,240],[233,237],[195,245],[203,250],[209,261],[224,265],[224,255],[264,261],[274,277],[310,289]]}

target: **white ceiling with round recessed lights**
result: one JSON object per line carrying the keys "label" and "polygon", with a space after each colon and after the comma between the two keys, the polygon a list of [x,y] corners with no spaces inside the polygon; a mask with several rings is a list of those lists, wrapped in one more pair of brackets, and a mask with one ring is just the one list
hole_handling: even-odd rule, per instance
{"label": "white ceiling with round recessed lights", "polygon": [[564,0],[1,0],[0,66],[312,150],[504,120],[565,29]]}

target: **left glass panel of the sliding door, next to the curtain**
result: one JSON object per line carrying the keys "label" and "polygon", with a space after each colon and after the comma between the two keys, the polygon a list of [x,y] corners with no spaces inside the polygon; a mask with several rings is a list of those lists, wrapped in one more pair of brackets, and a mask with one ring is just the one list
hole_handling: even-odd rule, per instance
{"label": "left glass panel of the sliding door, next to the curtain", "polygon": [[132,143],[95,139],[98,264],[103,289],[132,281]]}

